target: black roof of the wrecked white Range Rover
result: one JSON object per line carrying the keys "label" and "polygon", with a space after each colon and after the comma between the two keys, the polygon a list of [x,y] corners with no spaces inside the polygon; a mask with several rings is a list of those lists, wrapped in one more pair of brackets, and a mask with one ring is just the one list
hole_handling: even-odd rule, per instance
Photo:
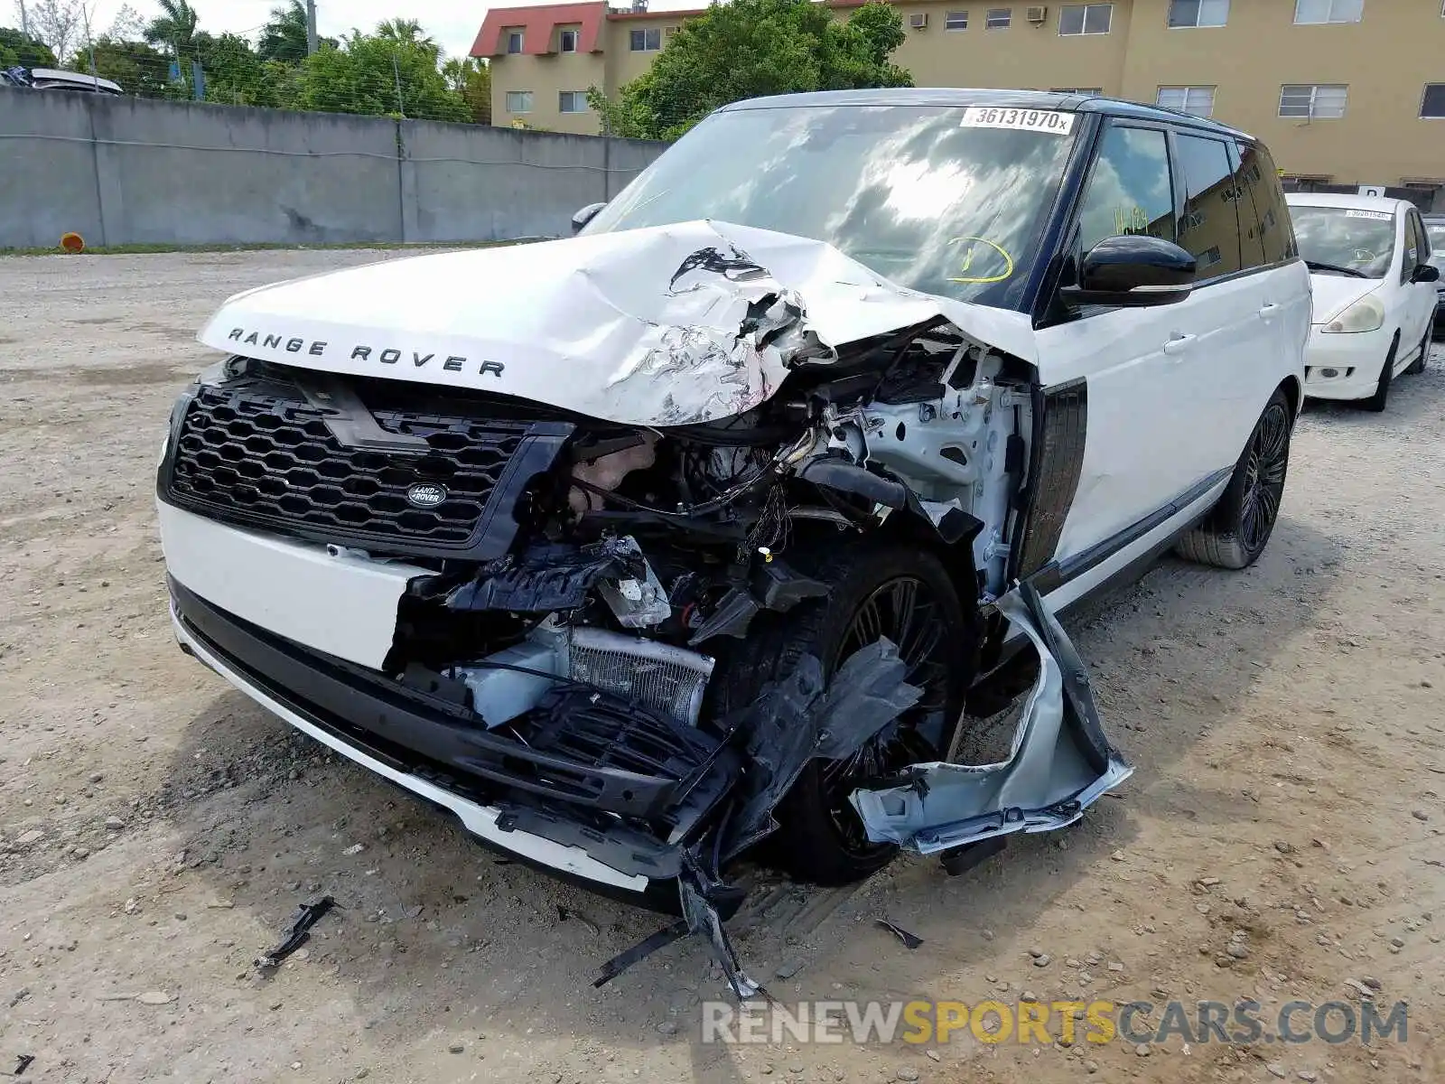
{"label": "black roof of the wrecked white Range Rover", "polygon": [[853,91],[814,91],[811,94],[776,94],[766,98],[744,98],[724,106],[718,113],[759,108],[805,108],[808,106],[997,106],[1001,108],[1065,110],[1074,113],[1101,113],[1110,117],[1133,117],[1134,120],[1163,120],[1172,124],[1186,123],[1237,139],[1253,136],[1221,124],[1217,120],[1196,117],[1192,113],[1168,110],[1160,106],[1144,106],[1123,98],[1105,98],[1091,94],[1059,94],[1056,91],[983,90],[974,87],[879,87]]}

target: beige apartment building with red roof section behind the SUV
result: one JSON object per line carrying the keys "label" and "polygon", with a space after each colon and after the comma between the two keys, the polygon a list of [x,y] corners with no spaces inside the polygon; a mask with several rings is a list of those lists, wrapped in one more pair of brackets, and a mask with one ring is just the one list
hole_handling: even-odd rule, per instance
{"label": "beige apartment building with red roof section behind the SUV", "polygon": [[[861,3],[824,1],[840,19]],[[1445,205],[1445,0],[894,6],[907,39],[893,59],[919,87],[1159,103],[1260,136],[1302,186],[1409,186]],[[696,13],[491,9],[473,55],[491,62],[494,123],[597,133],[587,88],[616,94]]]}

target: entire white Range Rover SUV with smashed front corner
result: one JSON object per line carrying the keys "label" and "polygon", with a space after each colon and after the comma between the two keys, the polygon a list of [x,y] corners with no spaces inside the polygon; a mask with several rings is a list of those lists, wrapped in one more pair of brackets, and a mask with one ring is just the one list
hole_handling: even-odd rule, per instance
{"label": "entire white Range Rover SUV with smashed front corner", "polygon": [[[158,478],[186,652],[694,929],[764,837],[815,882],[957,872],[1129,775],[1056,613],[1270,536],[1311,295],[1260,143],[1084,95],[763,98],[574,228],[221,306]],[[1012,754],[959,763],[1020,661]]]}

